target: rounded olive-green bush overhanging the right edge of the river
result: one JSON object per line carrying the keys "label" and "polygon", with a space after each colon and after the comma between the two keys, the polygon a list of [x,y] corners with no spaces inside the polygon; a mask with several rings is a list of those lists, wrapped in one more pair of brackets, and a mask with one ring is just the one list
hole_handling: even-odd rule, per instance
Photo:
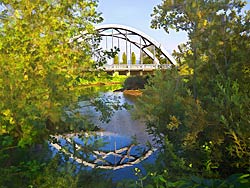
{"label": "rounded olive-green bush overhanging the right edge of the river", "polygon": [[[196,148],[195,143],[204,129],[206,112],[196,104],[175,69],[156,72],[142,97],[136,101],[135,111],[137,117],[145,120],[148,132],[165,151],[159,154],[159,163],[162,170],[163,166],[171,169],[169,177],[177,178],[184,172],[197,170],[189,168],[189,164],[202,166],[196,158],[203,157],[198,154],[201,148]],[[180,150],[183,152],[179,155]],[[189,155],[194,151],[196,156]]]}

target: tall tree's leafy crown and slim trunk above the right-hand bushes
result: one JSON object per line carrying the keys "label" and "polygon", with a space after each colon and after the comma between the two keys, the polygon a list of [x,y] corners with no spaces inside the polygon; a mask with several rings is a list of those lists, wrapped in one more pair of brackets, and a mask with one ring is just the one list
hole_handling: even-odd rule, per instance
{"label": "tall tree's leafy crown and slim trunk above the right-hand bushes", "polygon": [[[240,35],[246,33],[249,28],[248,16],[240,13],[244,6],[243,1],[190,0],[183,3],[183,1],[166,0],[154,9],[152,27],[163,27],[166,32],[173,28],[176,31],[186,31],[188,34],[187,55],[190,59],[189,67],[194,70],[192,78],[194,98],[198,97],[197,69],[200,69],[204,60],[208,61],[206,65],[212,66],[213,73],[219,72],[224,75],[227,74],[231,62],[234,64],[238,62],[235,53],[229,52],[232,49],[242,49],[237,45],[239,38],[236,35],[245,39],[240,41],[248,40],[246,34]],[[209,46],[207,46],[208,41],[210,41]],[[236,44],[237,47],[233,47],[232,44]],[[211,76],[211,73],[212,71],[208,75]]]}

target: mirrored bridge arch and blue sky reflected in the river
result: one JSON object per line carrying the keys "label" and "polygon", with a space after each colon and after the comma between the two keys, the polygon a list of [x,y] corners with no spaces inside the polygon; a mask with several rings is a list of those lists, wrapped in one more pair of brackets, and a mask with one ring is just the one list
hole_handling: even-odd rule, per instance
{"label": "mirrored bridge arch and blue sky reflected in the river", "polygon": [[147,159],[153,148],[128,137],[98,132],[55,136],[54,152],[62,151],[71,159],[91,168],[119,170]]}

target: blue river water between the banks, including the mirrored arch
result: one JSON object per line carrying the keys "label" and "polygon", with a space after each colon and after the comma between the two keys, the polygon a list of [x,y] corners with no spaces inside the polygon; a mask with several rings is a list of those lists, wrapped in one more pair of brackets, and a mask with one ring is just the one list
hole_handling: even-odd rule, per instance
{"label": "blue river water between the banks, including the mirrored arch", "polygon": [[[133,105],[133,100],[123,95],[122,92],[105,92],[101,94],[104,99],[118,99],[121,104],[128,103]],[[80,155],[71,155],[72,160],[76,163],[83,164],[87,169],[103,169],[113,181],[123,179],[133,179],[135,168],[140,168],[143,172],[144,163],[153,163],[155,160],[154,148],[152,147],[152,137],[146,132],[146,126],[143,121],[135,120],[126,109],[120,109],[113,113],[109,122],[99,121],[100,113],[96,112],[91,106],[79,109],[83,115],[89,114],[92,121],[101,128],[101,131],[94,134],[86,133],[83,137],[78,135],[68,135],[66,139],[60,140],[59,145],[53,145],[57,150],[60,146],[70,145],[72,142],[75,146],[70,146],[69,150],[78,148]],[[87,141],[86,141],[86,138]],[[73,141],[72,141],[73,140]],[[101,140],[102,144],[96,143]],[[88,155],[81,148],[93,148]]]}

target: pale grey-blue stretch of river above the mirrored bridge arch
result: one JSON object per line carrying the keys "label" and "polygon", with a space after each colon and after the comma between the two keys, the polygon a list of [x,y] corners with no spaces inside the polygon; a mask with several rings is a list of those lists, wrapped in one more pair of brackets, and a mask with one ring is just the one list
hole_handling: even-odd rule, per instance
{"label": "pale grey-blue stretch of river above the mirrored bridge arch", "polygon": [[[128,99],[127,96],[124,96],[123,93],[121,92],[119,93],[106,92],[102,95],[102,97],[100,97],[100,99],[102,100],[102,103],[100,104],[102,104],[103,106],[105,105],[107,106],[105,108],[103,107],[100,109],[107,109],[107,107],[109,108],[115,105],[126,106],[126,104],[129,104],[130,106],[132,106],[134,104],[132,98]],[[102,114],[102,112],[96,111],[94,106],[88,105],[87,103],[81,102],[81,104],[79,105],[81,107],[79,109],[79,112],[82,115],[88,115],[93,124],[99,127],[101,130],[113,132],[127,137],[136,136],[138,142],[141,144],[146,143],[148,140],[150,141],[152,140],[152,138],[148,135],[146,131],[145,123],[143,121],[133,119],[131,117],[130,112],[127,109],[116,108],[118,110],[113,109],[111,111],[107,111],[111,112],[111,114],[109,114],[110,121],[102,122],[100,121],[102,115],[106,115],[104,117],[107,117],[107,113]]]}

